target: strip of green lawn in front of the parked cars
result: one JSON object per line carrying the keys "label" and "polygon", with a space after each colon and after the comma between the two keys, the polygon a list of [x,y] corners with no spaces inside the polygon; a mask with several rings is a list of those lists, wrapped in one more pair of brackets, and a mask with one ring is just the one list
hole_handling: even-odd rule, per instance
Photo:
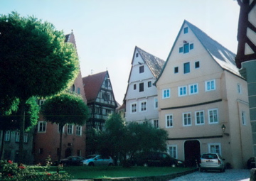
{"label": "strip of green lawn in front of the parked cars", "polygon": [[[53,168],[52,168],[53,169]],[[192,168],[172,168],[172,167],[87,167],[87,166],[70,166],[64,167],[62,171],[68,172],[73,179],[96,179],[110,177],[142,177],[165,175],[174,172],[183,172]]]}

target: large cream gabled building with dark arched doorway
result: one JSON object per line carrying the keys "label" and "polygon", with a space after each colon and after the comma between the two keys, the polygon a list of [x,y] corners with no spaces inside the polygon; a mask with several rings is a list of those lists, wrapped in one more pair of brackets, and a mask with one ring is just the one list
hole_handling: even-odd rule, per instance
{"label": "large cream gabled building with dark arched doorway", "polygon": [[183,21],[156,87],[170,155],[196,165],[201,153],[220,153],[232,168],[245,168],[252,133],[234,53]]}

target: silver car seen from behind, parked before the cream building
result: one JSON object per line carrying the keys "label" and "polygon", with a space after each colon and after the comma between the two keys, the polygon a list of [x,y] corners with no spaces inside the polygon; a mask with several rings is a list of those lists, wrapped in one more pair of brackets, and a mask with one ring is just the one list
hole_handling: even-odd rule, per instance
{"label": "silver car seen from behind, parked before the cream building", "polygon": [[200,159],[200,171],[220,170],[220,172],[225,172],[224,160],[218,153],[203,153]]}

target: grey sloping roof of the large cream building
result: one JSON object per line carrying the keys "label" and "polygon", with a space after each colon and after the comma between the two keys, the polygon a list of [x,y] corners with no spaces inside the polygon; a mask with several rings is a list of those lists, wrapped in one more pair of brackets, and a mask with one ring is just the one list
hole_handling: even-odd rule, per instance
{"label": "grey sloping roof of the large cream building", "polygon": [[[227,48],[225,48],[223,45],[218,43],[217,41],[210,38],[206,33],[201,31],[201,29],[197,28],[193,24],[189,23],[188,21],[184,20],[181,30],[178,33],[178,36],[174,42],[173,47],[171,48],[171,52],[169,53],[169,56],[167,57],[166,63],[164,67],[166,66],[169,57],[171,56],[172,51],[174,50],[174,46],[176,44],[176,41],[178,40],[179,35],[181,34],[183,30],[183,26],[187,24],[188,28],[191,29],[191,31],[196,35],[196,38],[202,43],[203,47],[208,51],[211,57],[213,57],[213,60],[220,65],[224,70],[228,70],[229,72],[232,72],[235,75],[238,75],[239,77],[242,77],[240,75],[240,72],[238,71],[238,68],[235,65],[235,53],[231,52]],[[159,77],[161,77],[162,72],[164,71],[164,68],[162,69]],[[159,78],[158,78],[159,79]],[[156,79],[156,82],[158,81]],[[155,82],[155,83],[156,83]]]}

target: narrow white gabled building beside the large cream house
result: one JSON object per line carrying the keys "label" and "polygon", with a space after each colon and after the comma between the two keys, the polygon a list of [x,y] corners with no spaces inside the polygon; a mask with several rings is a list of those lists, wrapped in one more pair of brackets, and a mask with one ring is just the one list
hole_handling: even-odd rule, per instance
{"label": "narrow white gabled building beside the large cream house", "polygon": [[156,128],[159,127],[158,98],[154,82],[163,66],[164,60],[135,47],[124,96],[127,122],[149,121]]}

